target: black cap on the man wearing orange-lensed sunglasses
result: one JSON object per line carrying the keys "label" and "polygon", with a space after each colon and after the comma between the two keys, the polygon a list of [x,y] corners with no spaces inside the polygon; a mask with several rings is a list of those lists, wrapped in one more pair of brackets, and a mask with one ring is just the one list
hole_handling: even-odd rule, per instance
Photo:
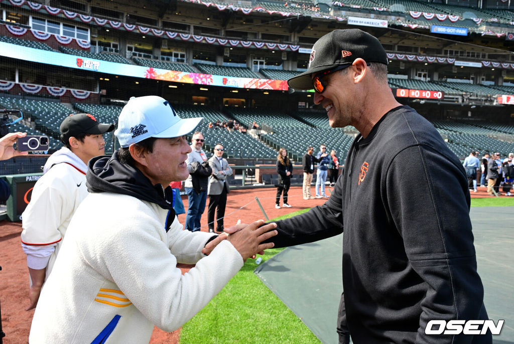
{"label": "black cap on the man wearing orange-lensed sunglasses", "polygon": [[287,83],[294,89],[313,89],[310,74],[339,65],[351,66],[357,58],[388,64],[386,50],[376,37],[359,29],[334,30],[314,44],[307,71],[289,79]]}

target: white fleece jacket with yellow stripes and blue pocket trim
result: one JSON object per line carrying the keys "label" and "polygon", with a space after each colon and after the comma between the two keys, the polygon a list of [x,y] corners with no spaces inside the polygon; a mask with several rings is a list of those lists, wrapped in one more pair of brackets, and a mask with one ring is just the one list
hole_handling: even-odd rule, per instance
{"label": "white fleece jacket with yellow stripes and blue pocket trim", "polygon": [[[30,343],[148,343],[153,326],[174,331],[243,266],[227,240],[183,231],[168,211],[131,196],[89,194],[68,226],[30,330]],[[185,275],[177,262],[195,263]],[[101,341],[103,339],[103,341]]]}

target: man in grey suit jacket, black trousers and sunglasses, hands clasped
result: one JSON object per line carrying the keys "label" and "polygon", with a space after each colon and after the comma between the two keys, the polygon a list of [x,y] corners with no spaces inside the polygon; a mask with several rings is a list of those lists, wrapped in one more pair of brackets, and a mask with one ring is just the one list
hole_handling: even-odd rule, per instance
{"label": "man in grey suit jacket, black trousers and sunglasses, hands clasped", "polygon": [[223,158],[225,149],[222,144],[214,146],[214,155],[209,159],[209,166],[212,168],[212,175],[209,177],[209,209],[207,211],[207,222],[209,224],[209,232],[214,232],[214,211],[216,211],[216,232],[223,232],[223,217],[225,216],[225,206],[227,205],[227,194],[229,186],[227,177],[232,176],[232,168],[228,165],[226,159]]}

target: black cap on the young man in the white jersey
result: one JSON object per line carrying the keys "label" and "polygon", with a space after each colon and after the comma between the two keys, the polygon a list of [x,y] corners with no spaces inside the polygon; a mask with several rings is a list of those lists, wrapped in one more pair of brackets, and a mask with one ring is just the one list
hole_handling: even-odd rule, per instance
{"label": "black cap on the young man in the white jersey", "polygon": [[66,143],[70,137],[79,136],[81,133],[103,134],[113,131],[114,124],[98,123],[97,119],[89,113],[70,114],[59,127],[61,141]]}

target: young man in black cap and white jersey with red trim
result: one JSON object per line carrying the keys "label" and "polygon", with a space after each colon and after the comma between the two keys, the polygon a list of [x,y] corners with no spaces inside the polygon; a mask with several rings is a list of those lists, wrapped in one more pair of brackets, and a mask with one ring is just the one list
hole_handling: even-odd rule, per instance
{"label": "young man in black cap and white jersey with red trim", "polygon": [[22,214],[22,247],[30,275],[30,310],[38,303],[43,283],[56,261],[71,217],[87,196],[87,162],[105,154],[103,134],[114,124],[102,124],[89,113],[72,114],[59,127],[64,147],[46,161]]}

